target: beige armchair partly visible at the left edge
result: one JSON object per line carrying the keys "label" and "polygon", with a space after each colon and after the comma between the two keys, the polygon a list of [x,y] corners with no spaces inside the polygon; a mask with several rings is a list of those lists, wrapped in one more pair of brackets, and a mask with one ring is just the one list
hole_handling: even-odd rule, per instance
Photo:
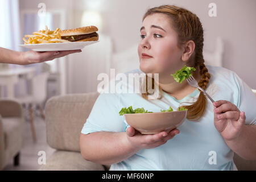
{"label": "beige armchair partly visible at the left edge", "polygon": [[0,170],[13,159],[19,165],[19,151],[24,142],[22,106],[14,100],[0,100]]}

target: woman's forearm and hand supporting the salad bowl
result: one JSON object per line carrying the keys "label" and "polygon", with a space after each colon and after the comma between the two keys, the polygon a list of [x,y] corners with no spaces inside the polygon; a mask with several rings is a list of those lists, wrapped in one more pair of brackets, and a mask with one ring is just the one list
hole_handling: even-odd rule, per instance
{"label": "woman's forearm and hand supporting the salad bowl", "polygon": [[134,155],[143,148],[155,148],[179,133],[174,129],[154,135],[142,135],[129,127],[126,132],[99,131],[80,135],[80,149],[82,157],[99,164],[114,164]]}

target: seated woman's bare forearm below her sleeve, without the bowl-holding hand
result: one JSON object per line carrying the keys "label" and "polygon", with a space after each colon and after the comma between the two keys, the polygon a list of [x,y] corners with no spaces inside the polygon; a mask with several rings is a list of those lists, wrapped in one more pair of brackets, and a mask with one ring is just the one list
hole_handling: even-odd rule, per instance
{"label": "seated woman's bare forearm below her sleeve, without the bowl-holding hand", "polygon": [[95,132],[80,135],[82,157],[95,163],[110,165],[125,160],[138,149],[126,142],[126,133]]}

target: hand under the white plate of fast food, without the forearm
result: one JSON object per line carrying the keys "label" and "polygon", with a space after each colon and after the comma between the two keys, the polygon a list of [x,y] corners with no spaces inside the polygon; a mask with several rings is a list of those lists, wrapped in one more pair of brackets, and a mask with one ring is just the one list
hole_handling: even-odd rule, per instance
{"label": "hand under the white plate of fast food, without the forearm", "polygon": [[70,53],[82,52],[79,50],[72,51],[47,51],[47,52],[36,52],[36,51],[27,51],[21,52],[21,59],[19,61],[20,65],[27,65],[33,63],[42,63],[44,61],[53,60],[59,57],[67,56]]}

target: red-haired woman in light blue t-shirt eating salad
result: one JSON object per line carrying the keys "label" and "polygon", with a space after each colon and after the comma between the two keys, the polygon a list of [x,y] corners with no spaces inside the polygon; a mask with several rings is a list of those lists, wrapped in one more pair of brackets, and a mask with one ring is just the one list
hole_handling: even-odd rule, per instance
{"label": "red-haired woman in light blue t-shirt eating salad", "polygon": [[[153,73],[162,95],[149,100],[148,93],[100,94],[81,131],[84,159],[112,164],[111,170],[234,170],[234,152],[256,159],[256,98],[236,73],[205,66],[199,18],[176,6],[149,9],[141,38],[140,69],[129,73]],[[193,76],[216,102],[170,76],[184,65],[196,68]],[[181,105],[188,109],[187,119],[170,133],[142,135],[118,114],[128,106],[159,112]]]}

